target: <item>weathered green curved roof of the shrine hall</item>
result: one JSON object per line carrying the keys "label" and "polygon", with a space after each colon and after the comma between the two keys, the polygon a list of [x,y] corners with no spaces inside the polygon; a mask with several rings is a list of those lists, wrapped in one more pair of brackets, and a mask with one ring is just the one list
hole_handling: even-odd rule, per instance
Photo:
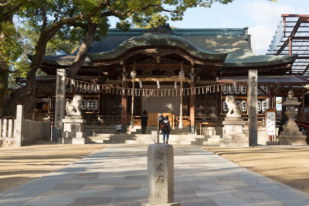
{"label": "weathered green curved roof of the shrine hall", "polygon": [[[172,45],[184,48],[196,57],[204,59],[226,58],[223,67],[266,66],[294,62],[297,56],[267,56],[252,52],[248,28],[226,29],[172,29],[173,35],[143,35],[145,29],[124,32],[110,29],[107,37],[94,41],[89,51],[90,59],[108,59],[121,55],[129,48],[140,45]],[[44,63],[71,65],[76,53],[61,56],[45,56]],[[84,66],[91,66],[86,58]]]}

